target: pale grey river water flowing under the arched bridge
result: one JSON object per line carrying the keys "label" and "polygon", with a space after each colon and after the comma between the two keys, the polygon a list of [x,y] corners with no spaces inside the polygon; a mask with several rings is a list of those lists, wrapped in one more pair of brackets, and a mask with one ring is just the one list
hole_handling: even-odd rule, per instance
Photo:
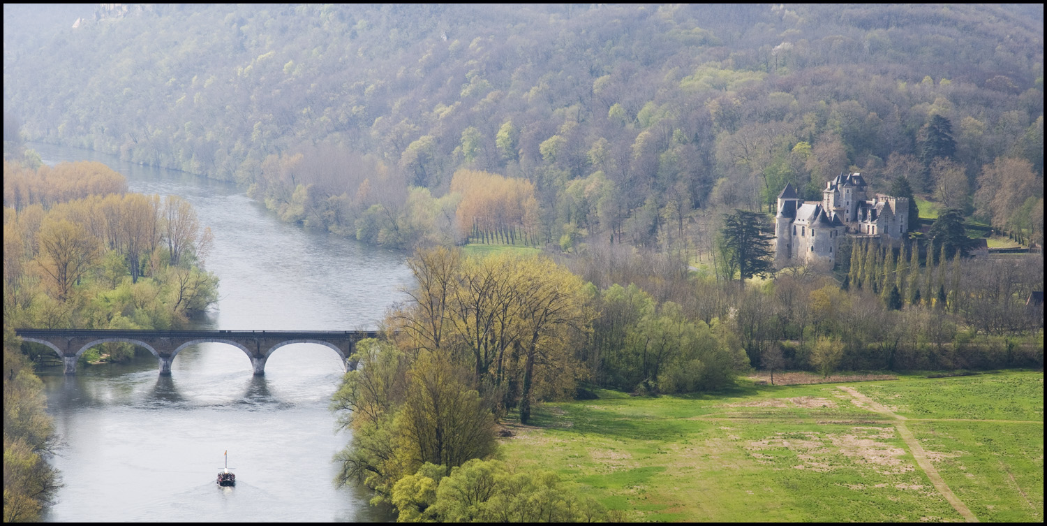
{"label": "pale grey river water flowing under the arched bridge", "polygon": [[[97,160],[130,190],[179,195],[210,226],[206,265],[217,308],[198,328],[374,328],[410,283],[401,251],[281,222],[232,184],[141,167],[88,150],[32,144],[46,163]],[[41,371],[61,445],[64,486],[44,519],[80,521],[387,521],[363,488],[333,484],[332,456],[350,440],[328,411],[341,378],[334,351],[280,348],[265,375],[223,344],[175,357],[160,377],[152,356],[119,366]],[[215,476],[228,451],[236,487]]]}

